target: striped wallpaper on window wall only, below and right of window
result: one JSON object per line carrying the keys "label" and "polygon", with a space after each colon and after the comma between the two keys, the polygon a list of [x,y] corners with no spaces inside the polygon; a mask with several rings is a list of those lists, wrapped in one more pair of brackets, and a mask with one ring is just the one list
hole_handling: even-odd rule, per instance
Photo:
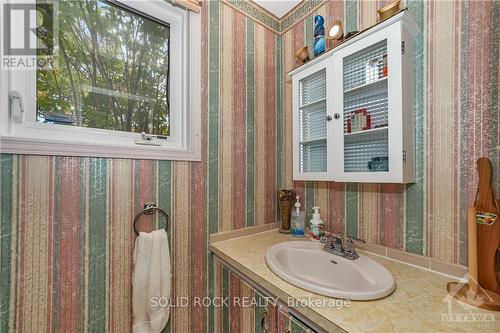
{"label": "striped wallpaper on window wall only, below and right of window", "polygon": [[[0,332],[130,332],[146,202],[171,215],[174,298],[208,295],[210,233],[275,221],[281,38],[218,1],[201,17],[201,163],[0,155]],[[212,319],[174,308],[165,331],[212,332]]]}

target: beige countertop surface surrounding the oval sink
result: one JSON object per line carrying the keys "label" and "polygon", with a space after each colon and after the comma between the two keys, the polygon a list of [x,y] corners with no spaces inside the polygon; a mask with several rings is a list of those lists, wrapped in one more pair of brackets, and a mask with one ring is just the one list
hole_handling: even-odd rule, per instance
{"label": "beige countertop surface surrounding the oval sink", "polygon": [[[381,300],[351,301],[340,309],[328,306],[333,298],[285,282],[264,260],[270,246],[304,239],[273,230],[216,242],[210,249],[285,304],[293,302],[295,311],[328,332],[500,332],[498,312],[477,309],[448,296],[446,283],[453,278],[361,251],[394,275],[396,290]],[[307,304],[297,305],[294,300]]]}

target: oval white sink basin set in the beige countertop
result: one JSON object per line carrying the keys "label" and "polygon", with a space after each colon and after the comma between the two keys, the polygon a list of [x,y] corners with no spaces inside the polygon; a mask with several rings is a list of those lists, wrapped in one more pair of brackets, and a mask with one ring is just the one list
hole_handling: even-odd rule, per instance
{"label": "oval white sink basin set in the beige countertop", "polygon": [[394,277],[376,261],[360,255],[349,260],[323,250],[322,243],[292,241],[271,246],[269,268],[283,280],[317,294],[373,300],[391,294]]}

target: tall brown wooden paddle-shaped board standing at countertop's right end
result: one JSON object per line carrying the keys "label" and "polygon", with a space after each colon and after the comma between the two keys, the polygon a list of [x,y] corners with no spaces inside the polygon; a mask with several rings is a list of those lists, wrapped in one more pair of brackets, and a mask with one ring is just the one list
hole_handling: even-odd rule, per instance
{"label": "tall brown wooden paddle-shaped board standing at countertop's right end", "polygon": [[[496,215],[491,224],[477,223],[477,266],[479,285],[487,290],[500,293],[500,281],[496,268],[496,254],[500,245],[500,211],[495,200],[491,161],[477,160],[479,183],[476,194],[476,221],[485,221]],[[494,215],[493,215],[494,214]],[[486,218],[485,218],[486,217]]]}

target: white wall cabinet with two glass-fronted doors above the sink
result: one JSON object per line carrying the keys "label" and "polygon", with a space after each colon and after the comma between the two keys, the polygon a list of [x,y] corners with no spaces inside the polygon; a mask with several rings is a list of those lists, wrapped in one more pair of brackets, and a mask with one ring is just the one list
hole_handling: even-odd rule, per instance
{"label": "white wall cabinet with two glass-fronted doors above the sink", "polygon": [[289,73],[295,180],[414,182],[417,32],[402,12]]}

